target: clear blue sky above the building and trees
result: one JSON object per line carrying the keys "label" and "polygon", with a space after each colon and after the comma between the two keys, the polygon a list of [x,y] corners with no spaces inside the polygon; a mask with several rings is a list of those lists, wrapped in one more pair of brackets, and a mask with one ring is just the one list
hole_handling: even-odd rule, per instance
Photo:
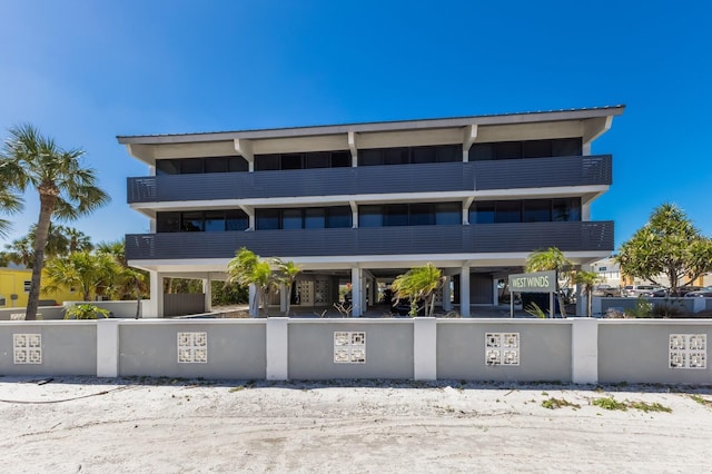
{"label": "clear blue sky above the building and trees", "polygon": [[148,231],[126,204],[147,168],[116,135],[625,103],[592,218],[617,248],[672,201],[712,236],[711,19],[708,0],[0,0],[0,137],[31,122],[87,150],[112,203],[73,225],[101,241]]}

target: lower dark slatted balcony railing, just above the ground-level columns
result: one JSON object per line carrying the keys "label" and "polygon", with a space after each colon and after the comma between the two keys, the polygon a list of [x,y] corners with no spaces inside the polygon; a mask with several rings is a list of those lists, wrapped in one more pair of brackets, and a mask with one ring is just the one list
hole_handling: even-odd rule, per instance
{"label": "lower dark slatted balcony railing, just above the ground-level columns", "polygon": [[231,258],[240,247],[263,256],[347,256],[613,250],[613,223],[364,227],[126,236],[129,260]]}

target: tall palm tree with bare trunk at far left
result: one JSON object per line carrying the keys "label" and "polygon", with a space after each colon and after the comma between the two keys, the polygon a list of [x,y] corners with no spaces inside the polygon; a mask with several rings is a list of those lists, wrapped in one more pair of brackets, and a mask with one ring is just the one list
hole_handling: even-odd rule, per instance
{"label": "tall palm tree with bare trunk at far left", "polygon": [[52,217],[71,220],[90,214],[109,201],[97,186],[93,169],[81,167],[81,149],[65,150],[31,125],[11,128],[0,157],[0,182],[18,195],[37,190],[40,214],[37,220],[34,261],[26,319],[37,315],[44,247]]}

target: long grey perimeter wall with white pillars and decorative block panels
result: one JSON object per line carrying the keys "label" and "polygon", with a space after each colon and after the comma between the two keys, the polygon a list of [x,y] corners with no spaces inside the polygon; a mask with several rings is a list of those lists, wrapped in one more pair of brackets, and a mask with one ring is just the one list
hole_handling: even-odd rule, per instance
{"label": "long grey perimeter wall with white pillars and decorative block panels", "polygon": [[0,375],[712,384],[710,319],[0,322]]}

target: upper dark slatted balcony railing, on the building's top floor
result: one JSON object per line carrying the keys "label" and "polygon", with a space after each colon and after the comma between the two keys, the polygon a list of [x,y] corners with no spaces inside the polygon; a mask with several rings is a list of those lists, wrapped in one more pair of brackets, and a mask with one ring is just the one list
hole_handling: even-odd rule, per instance
{"label": "upper dark slatted balcony railing, on the building's top floor", "polygon": [[610,185],[610,155],[128,178],[128,203]]}

